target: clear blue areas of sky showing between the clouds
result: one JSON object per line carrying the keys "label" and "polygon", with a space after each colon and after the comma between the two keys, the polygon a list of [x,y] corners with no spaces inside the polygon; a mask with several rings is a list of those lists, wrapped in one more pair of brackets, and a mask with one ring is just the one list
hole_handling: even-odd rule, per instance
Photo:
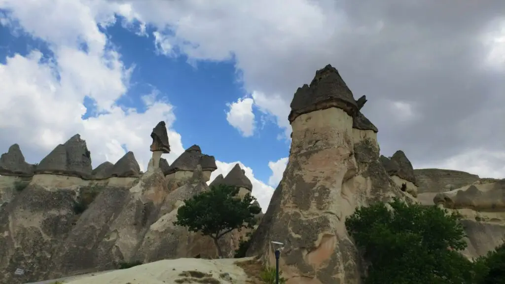
{"label": "clear blue areas of sky showing between the clouds", "polygon": [[[188,62],[185,55],[167,57],[156,51],[153,28],[147,27],[147,35],[138,35],[125,29],[122,20],[118,16],[114,25],[102,29],[121,54],[125,66],[134,66],[130,88],[117,100],[117,105],[141,113],[145,106],[140,97],[153,91],[158,93],[158,99],[174,106],[173,129],[181,134],[184,147],[197,144],[204,153],[220,161],[240,161],[252,168],[258,179],[268,181],[272,174],[268,161],[286,157],[289,143],[278,137],[283,130],[271,118],[265,117],[265,123],[259,125],[261,132],[255,131],[249,137],[243,137],[226,121],[226,104],[248,96],[233,57],[223,62]],[[15,30],[0,27],[2,63],[5,64],[7,56],[16,53],[26,56],[34,49],[44,57],[53,57],[43,40]],[[86,49],[85,45],[82,49]],[[83,119],[99,115],[89,97],[85,98],[84,105],[87,112]],[[262,115],[257,108],[253,111]]]}

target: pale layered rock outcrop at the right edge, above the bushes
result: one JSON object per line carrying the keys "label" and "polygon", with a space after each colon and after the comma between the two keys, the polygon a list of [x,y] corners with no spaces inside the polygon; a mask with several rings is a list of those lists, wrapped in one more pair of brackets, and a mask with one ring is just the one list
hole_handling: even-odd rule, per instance
{"label": "pale layered rock outcrop at the right edge, above the bushes", "polygon": [[463,216],[469,258],[485,255],[505,238],[505,179],[439,193],[433,202]]}

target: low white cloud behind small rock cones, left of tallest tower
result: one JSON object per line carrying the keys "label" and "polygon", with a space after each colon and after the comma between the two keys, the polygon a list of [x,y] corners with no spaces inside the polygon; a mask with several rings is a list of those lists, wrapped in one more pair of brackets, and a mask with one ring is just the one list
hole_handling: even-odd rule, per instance
{"label": "low white cloud behind small rock cones, left of tallest tower", "polygon": [[269,186],[265,184],[263,181],[258,180],[254,174],[252,173],[252,169],[249,167],[246,167],[244,164],[241,162],[231,162],[231,163],[226,163],[226,162],[221,162],[221,161],[216,161],[216,165],[218,167],[217,170],[213,171],[211,174],[211,179],[207,182],[207,184],[210,184],[216,176],[219,174],[222,174],[223,176],[226,176],[233,166],[235,164],[239,164],[240,167],[245,171],[245,176],[249,178],[249,180],[252,183],[252,196],[256,197],[258,200],[258,203],[260,203],[260,206],[265,212],[268,208],[268,205],[270,204],[270,198],[272,198],[272,194],[274,193],[274,188],[272,186]]}

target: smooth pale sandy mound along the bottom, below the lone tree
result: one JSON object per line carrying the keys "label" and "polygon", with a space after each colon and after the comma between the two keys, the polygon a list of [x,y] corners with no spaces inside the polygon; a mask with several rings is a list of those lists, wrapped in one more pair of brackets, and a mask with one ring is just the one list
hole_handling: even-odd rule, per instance
{"label": "smooth pale sandy mound along the bottom, below the lone tree", "polygon": [[[63,281],[65,284],[247,283],[248,277],[246,273],[235,262],[250,259],[252,258],[214,260],[180,258],[160,260],[128,269],[70,277],[63,279]],[[52,283],[56,280],[36,283]]]}

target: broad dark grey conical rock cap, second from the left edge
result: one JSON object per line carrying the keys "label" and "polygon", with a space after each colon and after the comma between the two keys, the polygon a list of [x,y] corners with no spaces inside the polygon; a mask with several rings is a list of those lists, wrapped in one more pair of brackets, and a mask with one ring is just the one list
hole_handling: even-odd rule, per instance
{"label": "broad dark grey conical rock cap, second from the left edge", "polygon": [[36,167],[35,173],[90,178],[91,171],[91,155],[86,141],[76,134],[45,156]]}

